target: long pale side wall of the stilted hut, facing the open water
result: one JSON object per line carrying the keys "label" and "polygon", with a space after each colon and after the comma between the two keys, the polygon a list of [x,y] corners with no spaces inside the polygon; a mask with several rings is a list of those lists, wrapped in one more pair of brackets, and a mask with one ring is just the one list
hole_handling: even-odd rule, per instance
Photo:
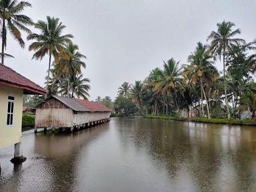
{"label": "long pale side wall of the stilted hut, facing the open water", "polygon": [[74,125],[81,125],[91,121],[99,121],[102,119],[109,119],[110,112],[77,112],[74,114]]}

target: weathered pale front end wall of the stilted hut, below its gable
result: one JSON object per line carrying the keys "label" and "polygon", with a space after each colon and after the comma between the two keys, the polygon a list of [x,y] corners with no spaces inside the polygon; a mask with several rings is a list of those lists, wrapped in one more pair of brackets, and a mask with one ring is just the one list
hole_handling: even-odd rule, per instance
{"label": "weathered pale front end wall of the stilted hut, below its gable", "polygon": [[35,112],[35,127],[71,127],[72,109],[39,108]]}

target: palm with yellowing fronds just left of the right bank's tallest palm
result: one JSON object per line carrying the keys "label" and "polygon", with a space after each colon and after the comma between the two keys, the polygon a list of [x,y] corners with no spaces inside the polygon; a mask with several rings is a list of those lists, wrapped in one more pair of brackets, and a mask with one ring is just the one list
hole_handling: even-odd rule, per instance
{"label": "palm with yellowing fronds just left of the right bank's tallest palm", "polygon": [[[207,46],[203,45],[202,43],[197,43],[197,47],[194,53],[191,53],[188,57],[190,65],[190,71],[192,73],[191,81],[193,83],[199,83],[201,87],[201,107],[203,111],[203,100],[206,101],[207,107],[207,116],[210,119],[210,111],[209,111],[209,104],[208,99],[205,94],[204,85],[206,83],[213,81],[215,74],[217,73],[217,69],[213,66],[213,61],[211,60],[212,57],[209,55],[209,51],[207,51]],[[204,99],[203,99],[204,97]]]}

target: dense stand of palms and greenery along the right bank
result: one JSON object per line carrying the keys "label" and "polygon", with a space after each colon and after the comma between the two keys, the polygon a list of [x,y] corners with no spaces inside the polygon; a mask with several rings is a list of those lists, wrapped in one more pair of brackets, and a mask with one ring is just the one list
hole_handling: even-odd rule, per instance
{"label": "dense stand of palms and greenery along the right bank", "polygon": [[[240,119],[247,111],[247,119],[255,118],[256,54],[251,53],[256,41],[237,38],[241,31],[234,27],[227,21],[217,23],[217,31],[207,38],[209,45],[197,43],[187,64],[173,58],[163,61],[163,67],[150,71],[143,81],[123,83],[119,97],[135,103],[141,114]],[[223,71],[215,67],[218,59]]]}

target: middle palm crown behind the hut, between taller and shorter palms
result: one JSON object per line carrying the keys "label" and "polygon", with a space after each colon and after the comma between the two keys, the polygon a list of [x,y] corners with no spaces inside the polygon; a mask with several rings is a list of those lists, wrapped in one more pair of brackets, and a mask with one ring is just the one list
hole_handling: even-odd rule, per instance
{"label": "middle palm crown behind the hut, between taller and shorter palms", "polygon": [[61,57],[59,64],[54,65],[54,69],[57,71],[57,76],[63,75],[68,77],[69,75],[81,74],[81,67],[86,67],[85,62],[81,61],[81,59],[86,59],[86,57],[85,55],[82,55],[78,49],[78,46],[72,42],[65,45],[65,52],[69,55],[69,58],[65,59],[64,57]]}

